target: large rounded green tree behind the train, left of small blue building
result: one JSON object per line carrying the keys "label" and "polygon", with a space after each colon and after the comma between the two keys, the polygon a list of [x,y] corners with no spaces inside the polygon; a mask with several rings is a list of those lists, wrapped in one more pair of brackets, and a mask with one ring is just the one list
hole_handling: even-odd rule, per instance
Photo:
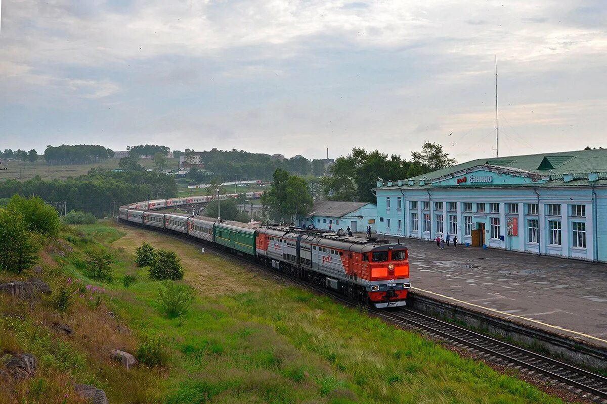
{"label": "large rounded green tree behind the train, left of small blue building", "polygon": [[262,196],[263,208],[271,219],[292,222],[295,217],[308,213],[313,201],[307,182],[281,168],[274,171],[273,178],[272,188]]}

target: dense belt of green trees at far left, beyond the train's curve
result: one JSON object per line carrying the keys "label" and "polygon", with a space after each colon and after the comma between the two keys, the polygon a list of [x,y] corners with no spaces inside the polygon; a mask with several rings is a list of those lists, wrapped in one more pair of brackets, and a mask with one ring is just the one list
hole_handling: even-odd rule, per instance
{"label": "dense belt of green trees at far left, beyond the train's curve", "polygon": [[118,213],[120,205],[146,199],[166,199],[177,195],[177,184],[166,175],[148,171],[114,173],[92,168],[88,174],[65,180],[42,180],[39,176],[23,182],[0,182],[0,198],[39,196],[61,210],[78,210],[104,217]]}

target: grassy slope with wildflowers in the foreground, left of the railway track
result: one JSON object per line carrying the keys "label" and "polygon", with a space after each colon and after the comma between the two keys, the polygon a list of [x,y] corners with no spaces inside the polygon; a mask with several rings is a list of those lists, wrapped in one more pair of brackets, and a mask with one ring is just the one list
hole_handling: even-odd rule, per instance
{"label": "grassy slope with wildflowers in the foreground, left of the railway track", "polygon": [[[41,359],[35,377],[14,388],[0,384],[2,404],[78,402],[74,382],[103,388],[110,403],[561,402],[417,334],[201,253],[197,245],[110,223],[72,228],[63,237],[71,253],[62,257],[57,253],[65,247],[49,246],[42,257],[51,297],[34,305],[0,299],[0,351]],[[135,267],[134,248],[144,240],[181,257],[185,282],[197,292],[186,316],[165,317],[158,282]],[[77,269],[80,251],[98,245],[115,257],[115,280],[103,285]],[[126,288],[124,274],[137,281]],[[66,313],[56,310],[68,277],[105,288],[100,304],[78,296]],[[9,278],[15,277],[0,274]],[[56,331],[56,322],[73,333]],[[116,347],[166,363],[126,370],[107,354]]]}

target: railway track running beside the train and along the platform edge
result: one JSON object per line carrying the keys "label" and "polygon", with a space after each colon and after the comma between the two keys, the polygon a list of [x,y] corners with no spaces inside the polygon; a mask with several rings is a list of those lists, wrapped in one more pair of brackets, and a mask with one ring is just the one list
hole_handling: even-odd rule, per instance
{"label": "railway track running beside the train and along the platform edge", "polygon": [[[175,237],[200,245],[195,239],[181,234],[171,233]],[[246,265],[260,268],[266,274],[270,274],[275,279],[288,279],[294,285],[302,286],[316,293],[331,296],[339,303],[348,306],[359,306],[358,303],[351,301],[345,296],[332,290],[327,290],[317,285],[313,285],[305,280],[294,279],[273,268],[264,267],[245,257],[229,254],[219,248],[204,244],[205,248],[214,251],[220,256],[229,259],[239,260]],[[467,349],[476,356],[483,359],[497,362],[500,365],[509,368],[518,369],[521,373],[529,376],[539,377],[544,382],[552,383],[560,388],[568,389],[579,396],[585,396],[594,402],[607,404],[607,377],[577,368],[565,362],[552,359],[551,357],[511,345],[498,339],[494,339],[483,334],[476,333],[470,329],[462,328],[452,323],[444,322],[439,319],[427,316],[408,308],[395,308],[392,310],[377,310],[367,308],[368,313],[373,314],[387,322],[395,323],[399,326],[413,328],[428,334],[435,339],[443,340],[457,348]]]}

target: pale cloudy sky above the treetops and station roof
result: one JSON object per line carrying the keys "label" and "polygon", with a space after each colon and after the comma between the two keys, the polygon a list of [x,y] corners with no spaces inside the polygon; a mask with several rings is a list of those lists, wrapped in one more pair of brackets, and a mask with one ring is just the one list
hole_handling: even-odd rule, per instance
{"label": "pale cloudy sky above the treetops and station roof", "polygon": [[2,0],[0,148],[607,147],[603,0]]}

